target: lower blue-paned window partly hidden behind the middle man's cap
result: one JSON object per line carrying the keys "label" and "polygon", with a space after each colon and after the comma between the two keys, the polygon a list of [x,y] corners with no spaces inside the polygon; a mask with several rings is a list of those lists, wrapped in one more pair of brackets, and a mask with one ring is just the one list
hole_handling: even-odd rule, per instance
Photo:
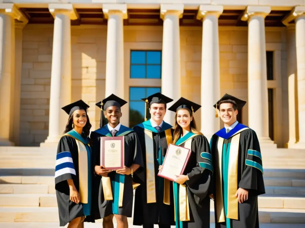
{"label": "lower blue-paned window partly hidden behind the middle man's cap", "polygon": [[[145,101],[146,98],[154,93],[161,92],[160,87],[130,87],[129,88],[129,127],[142,123],[145,118]],[[147,118],[150,118],[147,108]]]}

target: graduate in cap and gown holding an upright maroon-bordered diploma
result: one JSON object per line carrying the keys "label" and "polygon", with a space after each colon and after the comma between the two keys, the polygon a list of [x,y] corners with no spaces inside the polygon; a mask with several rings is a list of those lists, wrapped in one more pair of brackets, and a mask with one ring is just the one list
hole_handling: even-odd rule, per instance
{"label": "graduate in cap and gown holding an upright maroon-bordered diploma", "polygon": [[[96,104],[102,110],[101,115],[108,120],[108,124],[103,126],[101,116],[100,128],[91,133],[95,173],[102,177],[99,185],[98,204],[104,228],[113,227],[113,216],[117,220],[118,228],[128,226],[127,217],[132,216],[133,188],[137,185],[133,180],[136,177],[141,179],[143,158],[138,136],[131,128],[120,123],[121,107],[126,103],[112,94]],[[123,169],[115,171],[106,170],[100,164],[101,137],[113,136],[124,136],[125,140],[125,165]],[[134,174],[135,171],[137,171],[136,174]]]}

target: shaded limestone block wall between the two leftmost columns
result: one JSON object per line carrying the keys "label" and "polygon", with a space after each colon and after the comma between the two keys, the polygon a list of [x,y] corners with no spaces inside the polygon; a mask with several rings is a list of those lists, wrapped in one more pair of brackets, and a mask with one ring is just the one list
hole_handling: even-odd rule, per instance
{"label": "shaded limestone block wall between the two leftmost columns", "polygon": [[23,29],[20,146],[39,146],[48,136],[53,25]]}

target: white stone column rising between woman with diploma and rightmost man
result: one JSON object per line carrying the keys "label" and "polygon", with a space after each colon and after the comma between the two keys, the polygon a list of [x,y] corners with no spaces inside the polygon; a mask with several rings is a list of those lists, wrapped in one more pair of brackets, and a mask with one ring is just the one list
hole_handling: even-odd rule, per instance
{"label": "white stone column rising between woman with diploma and rightmost man", "polygon": [[219,130],[219,119],[215,119],[213,105],[220,99],[220,66],[218,18],[222,5],[200,5],[197,19],[202,23],[201,54],[201,132],[208,140]]}

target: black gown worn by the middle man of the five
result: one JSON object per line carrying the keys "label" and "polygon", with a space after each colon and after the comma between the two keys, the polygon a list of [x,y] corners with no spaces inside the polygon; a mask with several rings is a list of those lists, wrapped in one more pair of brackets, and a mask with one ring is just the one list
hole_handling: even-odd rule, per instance
{"label": "black gown worn by the middle man of the five", "polygon": [[[167,151],[167,145],[172,143],[172,126],[168,123],[163,122],[161,131],[158,132],[154,127],[151,126],[150,120],[145,121],[139,125],[134,126],[133,130],[138,135],[144,160],[144,171],[145,171],[145,182],[135,190],[135,209],[134,209],[134,221],[133,225],[141,226],[143,224],[160,224],[160,225],[175,225],[174,221],[174,197],[173,197],[173,182],[167,181],[165,183],[169,195],[168,202],[164,201],[164,179],[158,177],[159,165],[162,165],[164,161],[164,156]],[[153,162],[154,167],[154,181],[155,187],[152,189],[155,195],[155,200],[148,203],[147,199],[147,186],[146,186],[146,146],[149,145],[145,141],[145,130],[152,134],[152,138],[149,138],[152,143],[151,162]],[[152,197],[154,198],[154,197]]]}

